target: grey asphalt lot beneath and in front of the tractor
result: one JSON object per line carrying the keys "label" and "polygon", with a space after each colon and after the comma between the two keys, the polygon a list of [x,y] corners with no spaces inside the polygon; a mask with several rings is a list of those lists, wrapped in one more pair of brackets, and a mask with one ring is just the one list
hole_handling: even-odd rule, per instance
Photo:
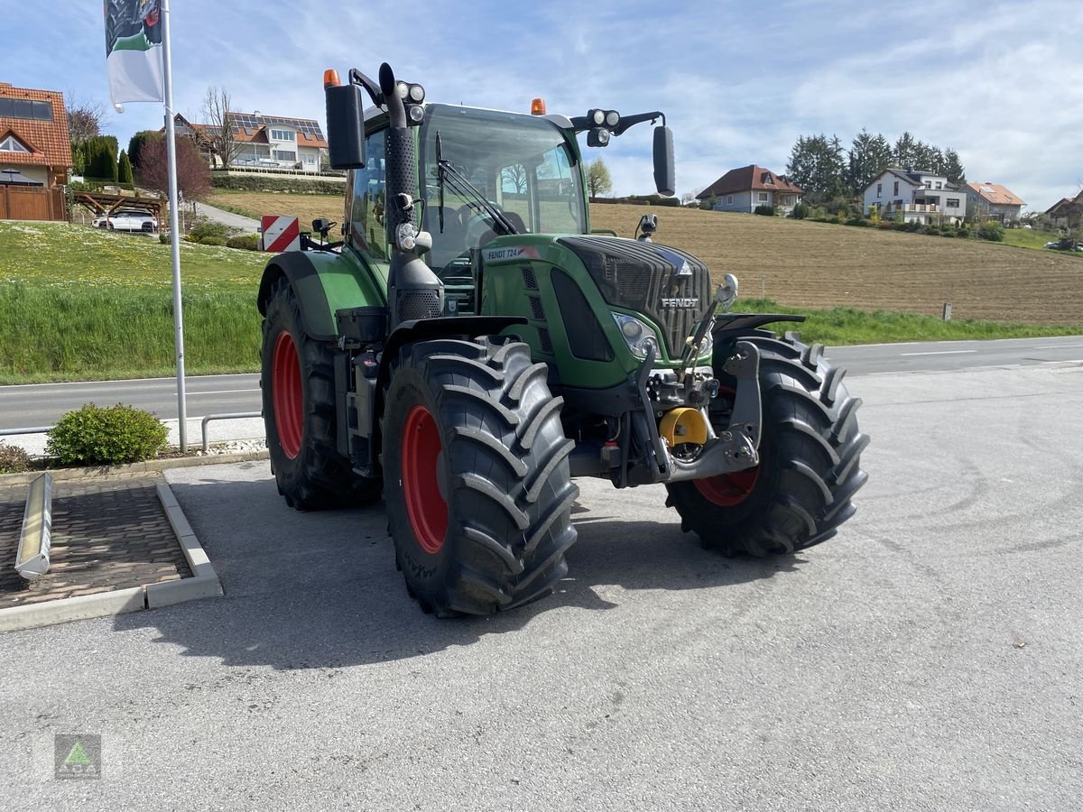
{"label": "grey asphalt lot beneath and in front of the tractor", "polygon": [[0,809],[1074,812],[1083,364],[848,381],[835,539],[728,560],[580,480],[567,580],[488,619],[418,611],[378,507],[171,471],[226,595],[0,636]]}

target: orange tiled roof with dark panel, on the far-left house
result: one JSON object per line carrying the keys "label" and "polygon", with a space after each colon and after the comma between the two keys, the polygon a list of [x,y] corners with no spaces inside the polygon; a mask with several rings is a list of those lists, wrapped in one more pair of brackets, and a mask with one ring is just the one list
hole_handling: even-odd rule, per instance
{"label": "orange tiled roof with dark panel, on the far-left house", "polygon": [[64,109],[64,94],[60,91],[13,88],[0,82],[0,141],[9,135],[14,135],[30,152],[4,150],[0,153],[3,163],[56,168],[71,166],[67,112]]}

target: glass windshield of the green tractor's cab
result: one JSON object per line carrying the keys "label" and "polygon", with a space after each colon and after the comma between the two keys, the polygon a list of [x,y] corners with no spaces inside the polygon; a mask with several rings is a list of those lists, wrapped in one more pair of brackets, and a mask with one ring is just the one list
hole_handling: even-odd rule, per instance
{"label": "glass windshield of the green tractor's cab", "polygon": [[545,119],[513,113],[433,104],[421,132],[425,188],[422,227],[432,235],[426,256],[440,273],[469,258],[500,227],[482,200],[461,185],[443,184],[443,230],[436,133],[441,155],[496,207],[519,234],[583,234],[586,213],[579,169],[564,134]]}

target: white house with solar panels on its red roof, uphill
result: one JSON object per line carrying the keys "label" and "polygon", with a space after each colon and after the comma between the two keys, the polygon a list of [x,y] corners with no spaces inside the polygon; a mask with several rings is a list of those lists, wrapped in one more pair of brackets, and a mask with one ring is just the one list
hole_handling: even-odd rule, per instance
{"label": "white house with solar panels on its red roof, uphill", "polygon": [[[318,172],[327,153],[327,141],[319,122],[312,118],[264,116],[256,113],[230,113],[233,137],[239,149],[231,167]],[[211,167],[221,166],[208,137],[211,125],[193,123],[178,114],[173,119],[178,135],[192,137]],[[159,130],[165,132],[165,128]]]}

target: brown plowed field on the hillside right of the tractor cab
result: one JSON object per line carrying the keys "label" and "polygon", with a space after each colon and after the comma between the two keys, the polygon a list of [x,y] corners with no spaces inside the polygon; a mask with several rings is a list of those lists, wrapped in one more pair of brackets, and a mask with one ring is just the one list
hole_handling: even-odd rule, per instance
{"label": "brown plowed field on the hillside right of the tractor cab", "polygon": [[1033,324],[1083,324],[1083,257],[973,239],[694,209],[593,205],[595,228],[632,236],[643,213],[657,243],[732,273],[747,298],[795,307],[862,310]]}

